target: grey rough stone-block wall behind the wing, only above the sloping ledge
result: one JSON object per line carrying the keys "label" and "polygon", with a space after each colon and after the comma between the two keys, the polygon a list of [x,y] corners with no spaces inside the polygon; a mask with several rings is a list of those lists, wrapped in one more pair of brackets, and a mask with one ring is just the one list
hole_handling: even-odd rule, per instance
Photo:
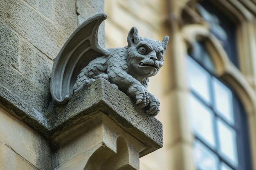
{"label": "grey rough stone-block wall behind the wing, only above the sloping ledge", "polygon": [[[49,81],[54,57],[80,23],[103,12],[104,1],[1,0],[0,3],[0,98],[4,105],[13,104],[40,119],[51,102]],[[104,46],[103,26],[99,39]]]}

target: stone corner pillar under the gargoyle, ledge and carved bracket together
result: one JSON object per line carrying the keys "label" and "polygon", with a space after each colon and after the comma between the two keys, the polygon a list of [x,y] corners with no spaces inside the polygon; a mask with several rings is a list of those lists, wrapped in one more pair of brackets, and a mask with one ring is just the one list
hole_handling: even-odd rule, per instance
{"label": "stone corner pillar under the gargoyle, ledge and carved bracket together", "polygon": [[139,170],[139,157],[163,145],[162,123],[105,79],[51,115],[54,170]]}

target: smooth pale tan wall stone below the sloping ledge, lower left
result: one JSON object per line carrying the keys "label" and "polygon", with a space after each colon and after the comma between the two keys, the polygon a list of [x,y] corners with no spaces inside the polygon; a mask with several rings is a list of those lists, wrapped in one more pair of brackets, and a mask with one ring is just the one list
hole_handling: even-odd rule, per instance
{"label": "smooth pale tan wall stone below the sloping ledge, lower left", "polygon": [[[11,151],[7,150],[8,156],[4,156],[7,166],[11,166],[10,162],[14,165],[20,162],[22,166],[26,166],[26,163],[29,162],[33,166],[27,163],[28,167],[36,167],[40,170],[51,169],[50,146],[38,132],[29,128],[2,108],[0,108],[0,120],[0,144],[11,148]],[[3,155],[2,152],[1,155]],[[16,158],[20,159],[20,157],[26,160],[25,164],[22,163],[22,160],[15,160]],[[6,170],[21,169],[27,170],[27,168],[17,167],[14,169],[7,168]]]}

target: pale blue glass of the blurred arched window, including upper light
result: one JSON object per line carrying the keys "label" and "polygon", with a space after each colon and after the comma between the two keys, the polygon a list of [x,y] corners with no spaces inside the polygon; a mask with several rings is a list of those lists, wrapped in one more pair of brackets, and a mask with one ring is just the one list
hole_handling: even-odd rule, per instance
{"label": "pale blue glass of the blurred arched window, including upper light", "polygon": [[[236,50],[232,50],[235,27],[207,4],[199,5],[198,11],[238,67]],[[252,170],[245,109],[232,88],[216,76],[204,42],[193,44],[186,67],[195,166],[198,170]]]}

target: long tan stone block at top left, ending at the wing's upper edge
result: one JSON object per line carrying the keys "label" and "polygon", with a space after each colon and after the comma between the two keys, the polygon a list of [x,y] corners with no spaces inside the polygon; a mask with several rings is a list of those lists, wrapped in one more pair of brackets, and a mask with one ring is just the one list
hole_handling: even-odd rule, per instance
{"label": "long tan stone block at top left, ending at the wing's upper edge", "polygon": [[47,57],[56,57],[68,38],[65,32],[22,0],[1,0],[1,8],[2,22]]}

